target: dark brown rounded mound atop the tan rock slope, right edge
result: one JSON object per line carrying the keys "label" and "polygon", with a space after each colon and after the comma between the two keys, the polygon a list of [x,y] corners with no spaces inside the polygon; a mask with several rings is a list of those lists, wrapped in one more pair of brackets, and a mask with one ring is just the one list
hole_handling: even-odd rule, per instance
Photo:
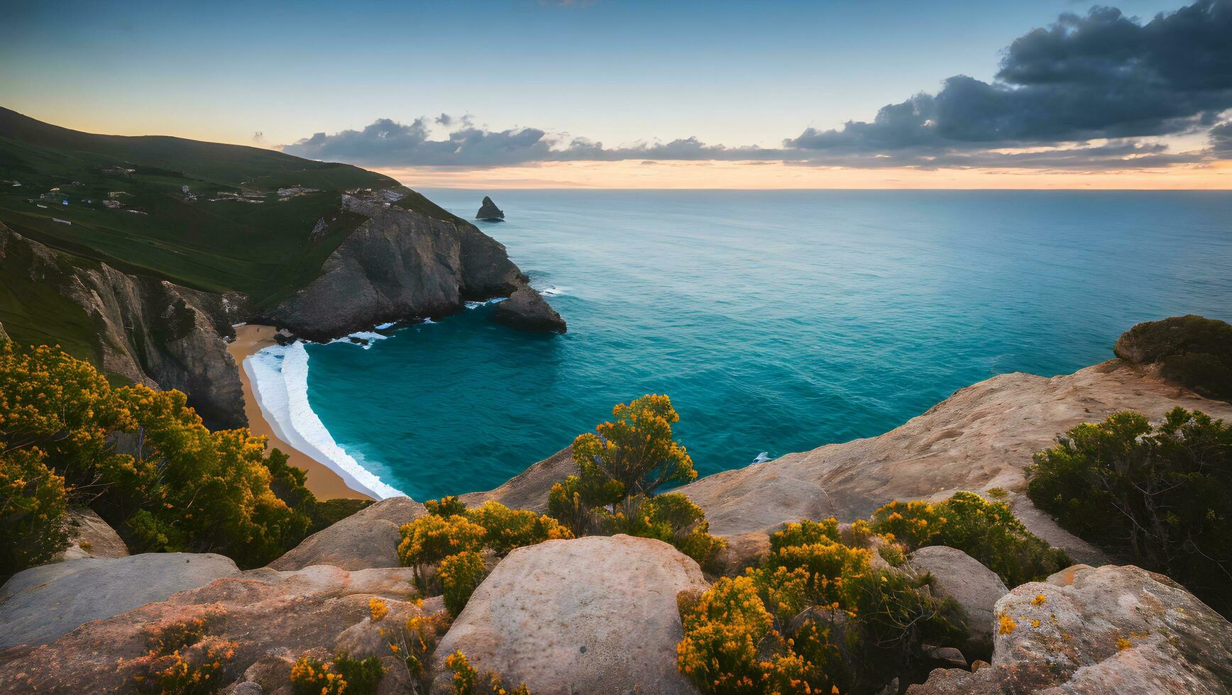
{"label": "dark brown rounded mound atop the tan rock slope, right edge", "polygon": [[1190,315],[1138,324],[1112,349],[1209,399],[1232,401],[1232,326],[1223,321]]}

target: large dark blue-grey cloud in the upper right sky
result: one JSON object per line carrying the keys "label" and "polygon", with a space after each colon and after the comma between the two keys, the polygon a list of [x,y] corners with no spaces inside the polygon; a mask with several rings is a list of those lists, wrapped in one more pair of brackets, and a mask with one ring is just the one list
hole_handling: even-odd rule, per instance
{"label": "large dark blue-grey cloud in the upper right sky", "polygon": [[1168,135],[1230,107],[1232,0],[1199,0],[1145,25],[1095,7],[1015,39],[994,82],[957,75],[872,122],[808,128],[784,145],[851,153]]}

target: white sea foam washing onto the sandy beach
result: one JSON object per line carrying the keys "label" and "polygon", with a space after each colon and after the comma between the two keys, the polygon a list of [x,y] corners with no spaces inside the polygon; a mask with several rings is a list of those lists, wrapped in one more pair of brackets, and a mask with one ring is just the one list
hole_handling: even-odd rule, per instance
{"label": "white sea foam washing onto the sandy beach", "polygon": [[267,347],[244,359],[244,370],[261,415],[280,439],[336,472],[351,490],[377,499],[405,497],[339,447],[308,405],[308,351],[303,343]]}

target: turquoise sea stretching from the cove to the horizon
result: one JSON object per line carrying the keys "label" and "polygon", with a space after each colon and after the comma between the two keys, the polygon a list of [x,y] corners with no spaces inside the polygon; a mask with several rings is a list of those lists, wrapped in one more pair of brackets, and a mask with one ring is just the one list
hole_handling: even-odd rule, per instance
{"label": "turquoise sea stretching from the cove to the horizon", "polygon": [[[1232,194],[425,191],[569,322],[490,306],[308,346],[334,439],[418,499],[500,485],[646,392],[700,475],[881,434],[981,379],[1112,357],[1138,321],[1232,320]],[[553,290],[549,290],[553,292]]]}

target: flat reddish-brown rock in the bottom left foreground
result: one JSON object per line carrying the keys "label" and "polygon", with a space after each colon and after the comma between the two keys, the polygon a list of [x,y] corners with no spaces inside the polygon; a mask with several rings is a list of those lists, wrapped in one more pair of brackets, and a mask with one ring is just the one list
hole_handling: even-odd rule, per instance
{"label": "flat reddish-brown rock in the bottom left foreground", "polygon": [[[384,657],[386,679],[393,683],[400,667],[379,640],[379,627],[372,625],[368,600],[377,597],[387,603],[389,615],[382,625],[392,626],[418,613],[407,600],[413,593],[410,572],[317,566],[299,572],[257,570],[218,579],[83,625],[51,645],[0,653],[0,691],[129,691],[134,679],[149,669],[150,636],[197,619],[206,621],[206,636],[193,640],[202,645],[234,642],[230,659],[222,659],[219,685],[251,680],[264,693],[281,688],[290,693],[291,664],[297,657],[312,651],[328,658],[341,648],[357,658]],[[200,647],[190,643],[182,652],[192,658],[195,648]],[[372,653],[376,651],[382,653]]]}

